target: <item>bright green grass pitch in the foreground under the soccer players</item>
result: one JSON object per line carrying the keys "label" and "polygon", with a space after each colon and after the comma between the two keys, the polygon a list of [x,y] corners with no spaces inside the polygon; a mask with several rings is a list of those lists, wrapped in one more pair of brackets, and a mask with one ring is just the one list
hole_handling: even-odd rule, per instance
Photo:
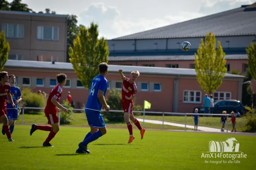
{"label": "bright green grass pitch in the foreground under the soccer players", "polygon": [[[136,131],[135,140],[127,144],[127,130],[110,128],[106,135],[88,145],[90,154],[76,154],[88,127],[61,127],[51,141],[54,147],[42,147],[48,132],[37,130],[30,136],[29,129],[30,126],[16,125],[12,134],[15,142],[0,136],[1,169],[253,170],[256,166],[255,136],[147,130],[144,139]],[[225,141],[230,137],[237,139],[239,151],[247,154],[247,158],[201,158],[202,153],[209,154],[210,141]],[[223,163],[230,160],[240,163]]]}

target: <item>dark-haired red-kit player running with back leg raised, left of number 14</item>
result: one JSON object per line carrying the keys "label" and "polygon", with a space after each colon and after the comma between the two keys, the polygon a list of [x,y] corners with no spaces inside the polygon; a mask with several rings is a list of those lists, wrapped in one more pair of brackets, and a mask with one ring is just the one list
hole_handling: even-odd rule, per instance
{"label": "dark-haired red-kit player running with back leg raised, left of number 14", "polygon": [[67,109],[59,104],[59,99],[62,96],[62,87],[65,85],[66,79],[66,74],[61,73],[57,75],[57,80],[59,84],[50,91],[46,107],[44,108],[44,113],[48,119],[48,124],[50,124],[51,126],[41,126],[33,124],[31,127],[30,135],[32,135],[35,130],[50,131],[47,139],[43,143],[43,146],[52,146],[49,142],[54,138],[56,133],[59,132],[59,119],[57,116],[57,112],[60,112],[59,108],[62,109],[62,111],[67,112]]}

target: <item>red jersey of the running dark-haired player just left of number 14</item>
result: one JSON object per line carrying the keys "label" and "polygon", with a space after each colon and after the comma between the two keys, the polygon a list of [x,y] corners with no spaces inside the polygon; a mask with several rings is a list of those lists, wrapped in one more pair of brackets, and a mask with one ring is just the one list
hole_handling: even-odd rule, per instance
{"label": "red jersey of the running dark-haired player just left of number 14", "polygon": [[47,103],[44,109],[44,113],[52,114],[57,113],[56,106],[51,102],[52,97],[54,97],[57,102],[62,96],[62,87],[60,85],[56,85],[50,92],[49,97],[47,99]]}

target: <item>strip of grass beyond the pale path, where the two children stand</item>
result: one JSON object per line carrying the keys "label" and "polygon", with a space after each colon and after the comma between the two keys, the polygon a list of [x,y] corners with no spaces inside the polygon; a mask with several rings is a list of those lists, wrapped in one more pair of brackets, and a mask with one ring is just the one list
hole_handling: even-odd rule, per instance
{"label": "strip of grass beyond the pale path, where the two children stand", "polygon": [[[137,116],[138,118],[143,119],[143,116]],[[175,122],[185,124],[185,116],[165,116],[166,122]],[[163,116],[145,116],[145,119],[152,120],[163,120]],[[199,117],[198,126],[206,126],[206,127],[215,127],[221,128],[222,124],[220,123],[220,117]],[[230,119],[230,118],[229,118]],[[187,116],[187,125],[194,125],[194,119],[191,116]],[[244,118],[236,118],[236,130],[238,132],[242,131],[244,127],[245,119]],[[227,128],[227,124],[225,126]],[[229,130],[232,130],[232,122],[229,122]]]}

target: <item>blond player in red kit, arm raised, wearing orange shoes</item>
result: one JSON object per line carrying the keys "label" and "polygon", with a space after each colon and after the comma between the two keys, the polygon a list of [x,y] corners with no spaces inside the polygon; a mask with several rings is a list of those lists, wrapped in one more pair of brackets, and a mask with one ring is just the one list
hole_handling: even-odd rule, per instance
{"label": "blond player in red kit, arm raised, wearing orange shoes", "polygon": [[124,74],[122,73],[122,69],[120,69],[118,72],[123,80],[122,84],[122,107],[124,110],[124,121],[127,124],[128,130],[129,130],[129,141],[128,143],[131,143],[135,137],[132,135],[132,124],[130,122],[130,119],[132,122],[138,127],[138,130],[141,132],[141,139],[144,137],[145,129],[141,128],[140,122],[134,117],[132,113],[132,106],[133,102],[132,100],[135,99],[135,95],[137,93],[137,86],[135,84],[135,80],[137,77],[139,77],[140,73],[138,71],[132,71],[129,79],[127,77],[124,77]]}

